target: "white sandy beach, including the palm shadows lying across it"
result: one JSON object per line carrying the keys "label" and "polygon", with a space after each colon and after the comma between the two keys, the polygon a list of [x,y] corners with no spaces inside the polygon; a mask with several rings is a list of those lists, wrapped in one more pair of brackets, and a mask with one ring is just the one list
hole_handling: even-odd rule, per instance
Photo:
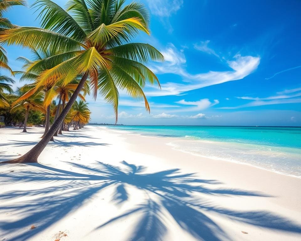
{"label": "white sandy beach, including the palm shadows lying across it", "polygon": [[[0,161],[43,129],[28,131],[0,129]],[[299,178],[104,127],[55,140],[40,164],[0,165],[1,241],[301,240]]]}

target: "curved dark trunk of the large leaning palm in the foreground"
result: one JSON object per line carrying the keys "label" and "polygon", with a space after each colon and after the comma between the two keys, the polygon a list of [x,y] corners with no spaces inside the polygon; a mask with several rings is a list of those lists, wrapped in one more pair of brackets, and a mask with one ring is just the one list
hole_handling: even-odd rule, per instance
{"label": "curved dark trunk of the large leaning palm in the foreground", "polygon": [[55,133],[55,131],[61,126],[61,123],[65,119],[65,116],[70,111],[74,101],[76,100],[80,90],[84,86],[84,83],[86,82],[88,78],[87,73],[85,73],[81,79],[81,81],[78,83],[77,88],[75,89],[74,93],[72,94],[70,100],[66,104],[65,109],[61,112],[59,117],[56,119],[56,121],[53,123],[53,125],[50,127],[49,131],[46,133],[45,137],[43,137],[40,142],[38,142],[29,152],[25,153],[23,156],[13,159],[10,161],[2,162],[2,163],[35,163],[38,162],[38,157],[40,156],[41,152],[46,147],[47,143],[50,141],[51,137]]}

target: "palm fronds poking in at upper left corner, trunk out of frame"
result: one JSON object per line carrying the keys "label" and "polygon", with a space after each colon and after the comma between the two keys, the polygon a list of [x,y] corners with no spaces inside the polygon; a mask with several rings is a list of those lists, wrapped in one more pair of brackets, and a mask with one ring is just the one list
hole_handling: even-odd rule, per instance
{"label": "palm fronds poking in at upper left corner, trunk out of frame", "polygon": [[[7,12],[11,7],[16,5],[23,5],[25,6],[25,1],[23,0],[1,0],[0,1],[0,33],[3,32],[5,29],[12,29],[16,26],[12,24],[8,18],[3,17],[3,13]],[[0,46],[0,67],[8,69],[10,72],[12,70],[8,66],[8,59],[6,56],[6,50]]]}

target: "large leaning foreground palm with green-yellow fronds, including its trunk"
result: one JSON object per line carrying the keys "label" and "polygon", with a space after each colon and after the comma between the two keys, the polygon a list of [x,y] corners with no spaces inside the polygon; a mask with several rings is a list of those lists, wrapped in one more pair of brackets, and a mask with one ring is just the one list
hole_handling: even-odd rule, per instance
{"label": "large leaning foreground palm with green-yellow fronds, including its trunk", "polygon": [[47,47],[50,51],[57,49],[62,53],[31,66],[39,68],[44,62],[57,64],[41,73],[38,78],[41,85],[50,79],[64,85],[82,75],[69,102],[45,137],[24,156],[7,163],[37,162],[88,78],[94,98],[99,91],[113,105],[116,121],[118,88],[126,90],[134,98],[144,99],[145,108],[150,111],[142,88],[145,83],[159,84],[159,81],[144,63],[163,61],[164,57],[149,44],[130,43],[140,30],[149,34],[149,13],[141,3],[133,2],[123,7],[124,2],[69,0],[64,10],[50,0],[38,0],[34,6],[41,10],[42,28],[7,29],[0,36],[0,42],[8,45],[36,49]]}

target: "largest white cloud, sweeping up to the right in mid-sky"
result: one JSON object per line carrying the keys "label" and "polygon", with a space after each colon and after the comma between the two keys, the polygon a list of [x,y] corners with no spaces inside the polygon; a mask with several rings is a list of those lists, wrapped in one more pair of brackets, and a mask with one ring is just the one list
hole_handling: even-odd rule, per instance
{"label": "largest white cloud, sweeping up to the right in mid-sky", "polygon": [[166,61],[160,64],[152,64],[150,69],[156,74],[172,73],[181,76],[182,83],[162,83],[161,90],[148,88],[146,96],[179,95],[184,92],[220,84],[228,81],[243,79],[251,74],[260,63],[260,57],[235,55],[234,60],[227,61],[231,71],[209,71],[206,73],[189,74],[185,70],[186,58],[183,52],[178,51],[170,44],[163,51]]}

